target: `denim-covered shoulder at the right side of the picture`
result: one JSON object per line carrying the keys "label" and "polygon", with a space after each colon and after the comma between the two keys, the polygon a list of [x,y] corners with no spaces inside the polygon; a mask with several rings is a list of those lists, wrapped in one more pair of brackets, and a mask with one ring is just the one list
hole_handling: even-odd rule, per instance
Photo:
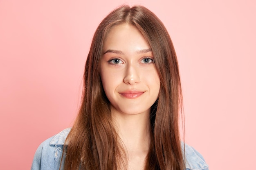
{"label": "denim-covered shoulder at the right side of the picture", "polygon": [[202,155],[192,146],[182,143],[182,150],[185,151],[186,170],[209,170]]}

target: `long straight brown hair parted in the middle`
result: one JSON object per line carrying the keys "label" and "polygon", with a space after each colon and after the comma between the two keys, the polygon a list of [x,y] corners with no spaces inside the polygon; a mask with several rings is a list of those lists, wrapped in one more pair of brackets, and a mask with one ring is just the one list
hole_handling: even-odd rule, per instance
{"label": "long straight brown hair parted in the middle", "polygon": [[148,41],[161,83],[159,98],[151,107],[151,144],[145,169],[183,170],[179,133],[182,95],[177,58],[162,22],[142,6],[115,9],[94,34],[85,64],[81,108],[65,142],[64,169],[126,169],[126,156],[111,123],[110,102],[99,74],[106,35],[113,26],[123,23],[135,26]]}

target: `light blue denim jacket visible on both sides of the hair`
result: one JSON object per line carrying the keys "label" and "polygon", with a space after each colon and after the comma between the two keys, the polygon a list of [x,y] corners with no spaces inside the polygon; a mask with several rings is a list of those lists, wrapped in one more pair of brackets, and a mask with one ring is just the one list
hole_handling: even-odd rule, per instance
{"label": "light blue denim jacket visible on both sides of the hair", "polygon": [[[64,161],[61,163],[63,145],[70,129],[64,129],[40,144],[34,155],[31,170],[58,170],[61,164],[63,169]],[[185,152],[186,170],[209,170],[202,155],[194,148],[185,144]]]}

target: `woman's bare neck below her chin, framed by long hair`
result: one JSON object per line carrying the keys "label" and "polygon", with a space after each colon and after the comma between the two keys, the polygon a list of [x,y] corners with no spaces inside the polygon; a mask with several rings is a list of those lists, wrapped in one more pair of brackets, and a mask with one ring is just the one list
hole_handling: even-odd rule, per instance
{"label": "woman's bare neck below her chin, framed by long hair", "polygon": [[112,111],[116,132],[126,152],[126,170],[144,169],[150,147],[150,112],[124,114]]}

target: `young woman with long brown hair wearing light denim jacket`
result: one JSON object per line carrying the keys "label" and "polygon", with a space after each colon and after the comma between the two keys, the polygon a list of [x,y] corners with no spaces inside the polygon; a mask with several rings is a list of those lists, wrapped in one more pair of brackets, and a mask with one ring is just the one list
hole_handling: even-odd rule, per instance
{"label": "young woman with long brown hair wearing light denim jacket", "polygon": [[177,58],[162,22],[122,6],[99,24],[72,129],[47,139],[32,170],[208,170],[181,142]]}

